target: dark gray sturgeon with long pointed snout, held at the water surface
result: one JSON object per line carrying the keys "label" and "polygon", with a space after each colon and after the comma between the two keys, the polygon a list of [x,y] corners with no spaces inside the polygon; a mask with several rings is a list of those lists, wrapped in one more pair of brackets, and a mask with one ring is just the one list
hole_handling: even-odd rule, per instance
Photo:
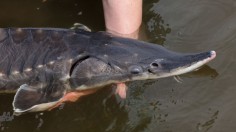
{"label": "dark gray sturgeon with long pointed snout, held at the water surface", "polygon": [[0,92],[17,91],[15,112],[42,111],[70,91],[180,75],[215,56],[180,54],[106,32],[0,29]]}

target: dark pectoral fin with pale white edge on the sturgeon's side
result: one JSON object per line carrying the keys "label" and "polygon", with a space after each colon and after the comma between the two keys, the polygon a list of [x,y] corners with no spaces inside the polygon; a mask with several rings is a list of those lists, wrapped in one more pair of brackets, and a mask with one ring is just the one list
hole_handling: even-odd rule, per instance
{"label": "dark pectoral fin with pale white edge on the sturgeon's side", "polygon": [[45,86],[43,84],[36,86],[23,84],[17,90],[12,103],[14,112],[21,114],[50,109],[58,103],[65,93],[66,88],[59,82]]}

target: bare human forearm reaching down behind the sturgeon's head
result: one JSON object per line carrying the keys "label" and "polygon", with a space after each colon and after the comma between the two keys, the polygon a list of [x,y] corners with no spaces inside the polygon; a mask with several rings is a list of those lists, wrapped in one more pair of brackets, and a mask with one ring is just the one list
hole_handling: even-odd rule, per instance
{"label": "bare human forearm reaching down behind the sturgeon's head", "polygon": [[138,38],[142,22],[142,0],[103,0],[103,9],[108,32]]}

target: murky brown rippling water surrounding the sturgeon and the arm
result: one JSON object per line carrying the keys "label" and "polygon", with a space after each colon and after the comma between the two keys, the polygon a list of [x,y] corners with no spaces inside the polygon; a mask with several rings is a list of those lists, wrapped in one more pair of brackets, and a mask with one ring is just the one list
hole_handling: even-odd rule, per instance
{"label": "murky brown rippling water surrounding the sturgeon and the arm", "polygon": [[[104,30],[94,0],[1,0],[0,27]],[[128,98],[112,86],[50,112],[12,116],[13,94],[0,94],[4,132],[234,132],[236,130],[236,1],[145,0],[142,39],[180,52],[216,50],[202,69],[173,78],[129,83]]]}

